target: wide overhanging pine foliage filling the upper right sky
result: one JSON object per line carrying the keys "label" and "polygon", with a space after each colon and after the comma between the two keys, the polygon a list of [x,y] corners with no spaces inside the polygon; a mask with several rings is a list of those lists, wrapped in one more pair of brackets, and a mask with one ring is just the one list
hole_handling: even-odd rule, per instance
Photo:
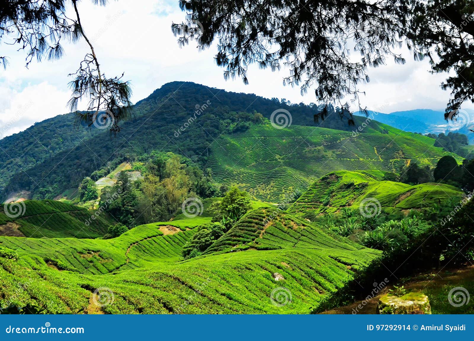
{"label": "wide overhanging pine foliage filling the upper right sky", "polygon": [[[403,64],[394,48],[405,43],[415,59],[428,56],[434,72],[455,70],[443,84],[453,89],[447,119],[464,101],[474,102],[472,1],[180,0],[180,7],[188,14],[186,22],[172,25],[179,44],[195,39],[205,49],[217,40],[215,59],[226,68],[226,79],[239,76],[248,83],[251,64],[272,70],[286,65],[284,83],[300,85],[301,93],[314,86],[323,103],[347,95],[358,102],[358,84],[369,81],[367,67],[383,65],[386,57]],[[353,123],[348,105],[340,104],[341,116]],[[326,106],[315,120],[328,113]]]}

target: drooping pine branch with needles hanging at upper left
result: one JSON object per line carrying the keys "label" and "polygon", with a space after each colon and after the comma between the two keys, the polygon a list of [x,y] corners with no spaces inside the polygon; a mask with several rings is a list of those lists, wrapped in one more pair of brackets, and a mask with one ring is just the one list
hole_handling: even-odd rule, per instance
{"label": "drooping pine branch with needles hanging at upper left", "polygon": [[[100,70],[98,57],[91,40],[86,36],[79,15],[79,0],[2,0],[0,2],[0,43],[19,46],[26,51],[26,66],[36,59],[55,60],[64,53],[64,40],[76,42],[84,39],[90,53],[84,56],[69,83],[73,92],[68,104],[76,112],[76,123],[107,127],[119,131],[118,122],[130,115],[131,90],[121,76],[108,78]],[[105,6],[107,0],[92,0]],[[73,18],[66,14],[66,5],[72,6]],[[9,41],[12,43],[9,43]],[[8,57],[0,55],[0,64],[7,67]],[[81,99],[88,100],[86,112],[78,112]]]}

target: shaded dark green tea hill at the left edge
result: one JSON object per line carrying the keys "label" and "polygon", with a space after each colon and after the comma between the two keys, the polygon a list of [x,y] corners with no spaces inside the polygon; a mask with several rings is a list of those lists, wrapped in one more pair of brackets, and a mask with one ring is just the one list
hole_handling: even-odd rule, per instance
{"label": "shaded dark green tea hill at the left edge", "polygon": [[0,235],[98,238],[107,232],[110,225],[117,223],[104,215],[91,219],[91,214],[85,208],[55,200],[10,203],[0,211]]}

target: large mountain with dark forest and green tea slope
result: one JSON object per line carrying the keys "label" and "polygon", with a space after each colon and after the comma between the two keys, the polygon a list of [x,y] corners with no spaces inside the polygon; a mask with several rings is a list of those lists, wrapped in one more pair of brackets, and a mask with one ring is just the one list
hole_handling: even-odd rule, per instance
{"label": "large mountain with dark forest and green tea slope", "polygon": [[[291,115],[291,125],[276,129],[283,127],[269,120],[282,110]],[[0,160],[1,197],[64,196],[92,172],[152,151],[181,154],[211,168],[217,182],[237,184],[267,201],[287,200],[334,169],[398,171],[408,160],[433,164],[449,154],[434,147],[432,138],[363,117],[349,126],[334,113],[315,124],[317,112],[316,105],[167,83],[134,106],[134,119],[122,122],[116,138],[94,126],[77,133],[68,114],[0,140],[6,151]]]}

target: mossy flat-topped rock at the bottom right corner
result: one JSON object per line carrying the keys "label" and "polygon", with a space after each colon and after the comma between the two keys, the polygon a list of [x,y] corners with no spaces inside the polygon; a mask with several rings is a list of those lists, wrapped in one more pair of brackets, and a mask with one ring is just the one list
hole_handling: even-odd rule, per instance
{"label": "mossy flat-topped rock at the bottom right corner", "polygon": [[383,295],[377,304],[377,314],[431,314],[427,295],[408,293],[403,296]]}

